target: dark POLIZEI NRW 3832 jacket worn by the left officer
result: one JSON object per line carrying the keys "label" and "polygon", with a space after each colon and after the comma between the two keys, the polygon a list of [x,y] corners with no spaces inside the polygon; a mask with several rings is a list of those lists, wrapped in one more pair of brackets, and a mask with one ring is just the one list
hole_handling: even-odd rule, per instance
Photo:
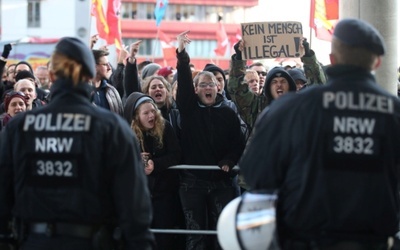
{"label": "dark POLIZEI NRW 3832 jacket worn by the left officer", "polygon": [[2,131],[0,219],[119,225],[128,249],[147,249],[151,206],[135,136],[89,101],[90,87],[57,80],[51,102]]}

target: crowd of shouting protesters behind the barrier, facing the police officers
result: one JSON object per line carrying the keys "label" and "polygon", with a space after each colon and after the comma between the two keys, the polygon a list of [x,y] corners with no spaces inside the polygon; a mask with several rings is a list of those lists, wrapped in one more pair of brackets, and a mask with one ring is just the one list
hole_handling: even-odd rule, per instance
{"label": "crowd of shouting protesters behind the barrier, facing the police officers", "polygon": [[[177,41],[176,67],[139,63],[141,41],[136,41],[122,48],[113,68],[107,48],[94,49],[93,37],[96,70],[90,80],[90,100],[99,109],[125,118],[136,134],[151,197],[151,227],[215,230],[222,209],[249,188],[234,167],[259,114],[287,93],[324,85],[326,75],[306,39],[301,68],[249,65],[241,54],[245,43],[239,41],[229,69],[207,64],[201,71],[190,63],[189,32],[177,35]],[[25,61],[7,64],[11,50],[11,44],[5,45],[0,57],[0,129],[19,113],[52,102],[52,63],[35,71]],[[180,164],[219,170],[168,169]],[[215,236],[155,236],[160,250],[220,249]]]}

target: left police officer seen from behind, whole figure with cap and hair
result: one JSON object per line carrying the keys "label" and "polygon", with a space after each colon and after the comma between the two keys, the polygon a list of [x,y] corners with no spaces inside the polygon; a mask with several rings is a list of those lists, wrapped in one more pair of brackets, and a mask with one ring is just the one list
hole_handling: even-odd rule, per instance
{"label": "left police officer seen from behind, whole figure with cap and hair", "polygon": [[90,102],[95,62],[76,38],[51,57],[51,103],[1,135],[0,239],[15,218],[22,249],[151,249],[151,206],[138,143]]}

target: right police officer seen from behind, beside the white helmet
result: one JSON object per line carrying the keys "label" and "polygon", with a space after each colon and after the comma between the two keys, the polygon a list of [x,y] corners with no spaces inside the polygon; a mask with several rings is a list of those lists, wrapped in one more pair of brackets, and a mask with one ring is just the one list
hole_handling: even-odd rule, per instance
{"label": "right police officer seen from behind, beside the white helmet", "polygon": [[261,114],[239,166],[252,189],[278,192],[282,249],[387,249],[399,224],[400,102],[376,83],[379,32],[335,27],[328,82]]}

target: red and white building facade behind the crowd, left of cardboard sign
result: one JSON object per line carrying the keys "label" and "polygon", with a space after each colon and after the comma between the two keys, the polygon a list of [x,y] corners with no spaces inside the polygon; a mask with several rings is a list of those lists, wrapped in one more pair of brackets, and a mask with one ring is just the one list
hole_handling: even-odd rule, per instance
{"label": "red and white building facade behind the crowd, left of cardboard sign", "polygon": [[[240,23],[245,22],[248,10],[257,5],[258,0],[169,0],[165,16],[157,27],[154,16],[155,0],[122,0],[123,42],[130,44],[142,40],[138,60],[163,64],[165,62],[157,39],[157,29],[172,41],[181,32],[190,30],[192,43],[187,50],[196,68],[202,69],[210,62],[220,65],[221,68],[228,68],[229,58],[233,53],[231,43],[240,33]],[[219,22],[224,26],[229,39],[224,56],[214,53]]]}

